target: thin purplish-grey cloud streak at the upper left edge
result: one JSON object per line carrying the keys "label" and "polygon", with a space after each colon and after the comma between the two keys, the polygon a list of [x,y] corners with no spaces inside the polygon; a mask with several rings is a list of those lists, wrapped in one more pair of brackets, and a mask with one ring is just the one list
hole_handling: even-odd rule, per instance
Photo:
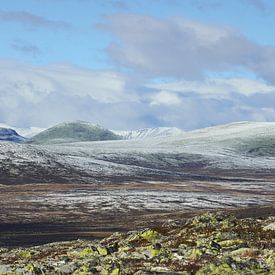
{"label": "thin purplish-grey cloud streak at the upper left edge", "polygon": [[13,22],[35,28],[71,29],[72,26],[64,21],[51,20],[27,11],[0,11],[1,22]]}

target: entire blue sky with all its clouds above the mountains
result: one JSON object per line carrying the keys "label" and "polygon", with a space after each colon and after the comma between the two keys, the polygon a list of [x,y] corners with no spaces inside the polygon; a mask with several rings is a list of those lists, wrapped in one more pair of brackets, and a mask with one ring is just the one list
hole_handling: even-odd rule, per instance
{"label": "entire blue sky with all its clouds above the mountains", "polygon": [[0,0],[0,122],[275,121],[275,1]]}

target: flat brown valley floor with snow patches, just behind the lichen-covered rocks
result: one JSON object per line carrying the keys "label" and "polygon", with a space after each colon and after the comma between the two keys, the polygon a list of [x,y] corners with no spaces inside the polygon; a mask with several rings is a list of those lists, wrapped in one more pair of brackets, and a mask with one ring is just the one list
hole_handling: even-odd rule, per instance
{"label": "flat brown valley floor with snow patches, just behind the lichen-covered rocks", "polygon": [[274,187],[255,180],[0,185],[0,247],[102,238],[201,210],[253,207],[262,215]]}

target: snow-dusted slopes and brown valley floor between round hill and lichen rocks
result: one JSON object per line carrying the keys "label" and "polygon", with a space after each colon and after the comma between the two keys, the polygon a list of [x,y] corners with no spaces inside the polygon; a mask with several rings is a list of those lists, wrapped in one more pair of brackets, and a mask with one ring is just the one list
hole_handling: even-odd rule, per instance
{"label": "snow-dusted slopes and brown valley floor between round hill and lichen rocks", "polygon": [[242,122],[133,139],[2,142],[0,246],[102,238],[205,210],[274,214],[273,136],[274,123]]}

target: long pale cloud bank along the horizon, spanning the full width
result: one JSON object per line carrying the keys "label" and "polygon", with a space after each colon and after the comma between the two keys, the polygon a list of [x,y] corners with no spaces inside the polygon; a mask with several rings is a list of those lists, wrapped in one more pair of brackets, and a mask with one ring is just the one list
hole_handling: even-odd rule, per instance
{"label": "long pale cloud bank along the horizon, spanning the full width", "polygon": [[112,71],[0,60],[0,122],[20,127],[77,119],[122,130],[270,121],[274,91],[275,86],[245,78],[137,85]]}

